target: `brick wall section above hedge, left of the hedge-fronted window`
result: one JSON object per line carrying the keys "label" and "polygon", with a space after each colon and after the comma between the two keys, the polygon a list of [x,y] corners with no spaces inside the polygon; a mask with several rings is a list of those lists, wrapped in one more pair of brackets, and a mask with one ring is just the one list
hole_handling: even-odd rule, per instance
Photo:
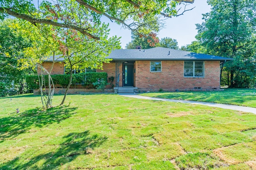
{"label": "brick wall section above hedge, left of the hedge-fronted window", "polygon": [[[46,70],[50,71],[50,68],[52,67],[52,62],[43,62],[42,66]],[[38,72],[38,74],[41,74],[41,68],[40,67],[38,67],[37,72]],[[44,73],[44,74],[46,74],[46,73]],[[54,67],[52,69],[51,75],[53,75],[53,74],[64,74],[64,62],[62,62],[62,63],[59,63],[59,62],[54,63]]]}

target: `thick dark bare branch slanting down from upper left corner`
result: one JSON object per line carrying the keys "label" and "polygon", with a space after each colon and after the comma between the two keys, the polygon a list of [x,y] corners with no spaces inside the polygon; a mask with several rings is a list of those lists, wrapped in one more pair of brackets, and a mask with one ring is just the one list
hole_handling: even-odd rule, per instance
{"label": "thick dark bare branch slanting down from upper left corner", "polygon": [[87,35],[88,37],[91,37],[93,39],[97,39],[99,40],[99,37],[96,37],[90,33],[88,33],[88,29],[83,29],[82,27],[77,27],[74,25],[69,25],[69,24],[65,24],[65,23],[59,23],[59,22],[54,22],[52,20],[46,20],[46,19],[37,19],[37,18],[33,18],[31,16],[28,16],[26,14],[20,14],[18,12],[14,12],[12,11],[10,8],[0,8],[0,12],[6,12],[7,14],[9,14],[10,16],[14,16],[16,18],[20,18],[26,21],[29,21],[32,24],[36,24],[36,23],[45,23],[48,25],[53,25],[53,26],[57,26],[57,27],[63,27],[63,28],[70,28],[70,29],[76,29],[77,31],[80,31],[82,34]]}

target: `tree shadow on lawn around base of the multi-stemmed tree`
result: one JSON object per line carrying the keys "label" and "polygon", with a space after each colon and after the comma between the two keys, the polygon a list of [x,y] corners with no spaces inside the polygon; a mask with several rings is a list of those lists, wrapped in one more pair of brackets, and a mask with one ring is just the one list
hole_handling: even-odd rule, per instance
{"label": "tree shadow on lawn around base of the multi-stemmed tree", "polygon": [[6,138],[15,138],[32,127],[59,123],[74,114],[73,111],[76,109],[77,107],[57,106],[47,110],[30,109],[21,114],[11,113],[9,117],[0,118],[0,143]]}

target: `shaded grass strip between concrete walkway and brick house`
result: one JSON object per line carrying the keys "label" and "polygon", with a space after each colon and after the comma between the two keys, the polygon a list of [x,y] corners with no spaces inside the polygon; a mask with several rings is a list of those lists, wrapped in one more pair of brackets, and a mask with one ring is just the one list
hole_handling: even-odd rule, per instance
{"label": "shaded grass strip between concrete walkway and brick house", "polygon": [[158,92],[145,93],[141,95],[156,98],[191,100],[198,102],[211,102],[219,104],[256,107],[256,89],[225,88],[224,91]]}

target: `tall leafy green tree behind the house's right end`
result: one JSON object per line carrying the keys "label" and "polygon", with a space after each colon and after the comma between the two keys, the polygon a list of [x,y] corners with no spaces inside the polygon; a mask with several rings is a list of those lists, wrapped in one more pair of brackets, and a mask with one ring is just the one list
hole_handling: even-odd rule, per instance
{"label": "tall leafy green tree behind the house's right end", "polygon": [[208,4],[212,10],[197,24],[196,38],[206,53],[234,59],[224,64],[230,87],[249,87],[256,73],[256,1],[208,0]]}

